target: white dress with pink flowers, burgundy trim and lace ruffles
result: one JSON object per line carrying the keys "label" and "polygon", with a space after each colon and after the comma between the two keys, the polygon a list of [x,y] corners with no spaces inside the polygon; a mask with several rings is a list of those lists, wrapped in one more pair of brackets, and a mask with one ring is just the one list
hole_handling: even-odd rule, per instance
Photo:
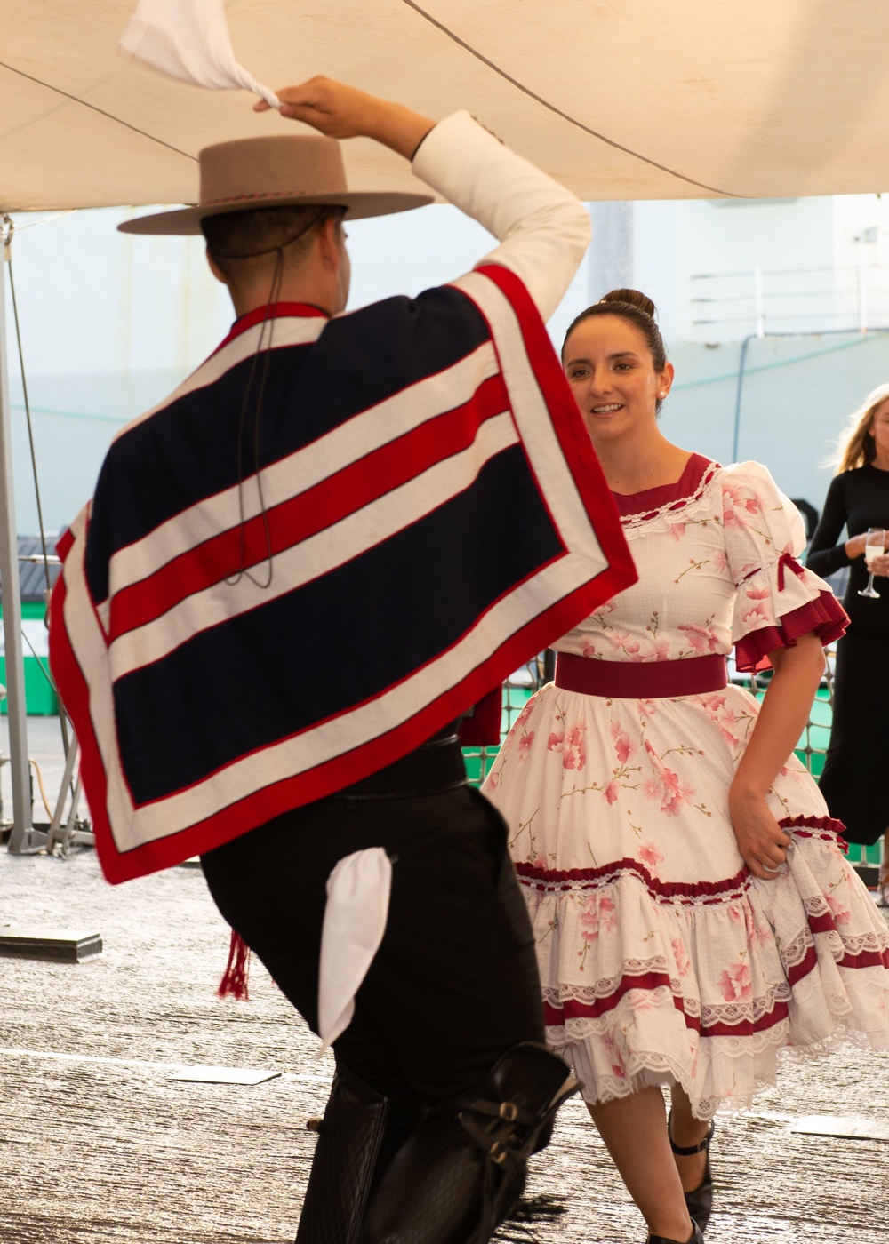
{"label": "white dress with pink flowers, burgundy trim and lace ruffles", "polygon": [[[797,636],[842,633],[758,463],[692,455],[676,485],[615,500],[639,582],[558,652],[654,664],[735,646],[753,669]],[[887,926],[796,756],[767,796],[788,862],[762,882],[738,853],[728,786],[757,710],[732,684],[642,698],[549,684],[486,782],[530,908],[548,1040],[589,1101],[676,1082],[708,1118],[773,1084],[782,1049],[889,1047]]]}

